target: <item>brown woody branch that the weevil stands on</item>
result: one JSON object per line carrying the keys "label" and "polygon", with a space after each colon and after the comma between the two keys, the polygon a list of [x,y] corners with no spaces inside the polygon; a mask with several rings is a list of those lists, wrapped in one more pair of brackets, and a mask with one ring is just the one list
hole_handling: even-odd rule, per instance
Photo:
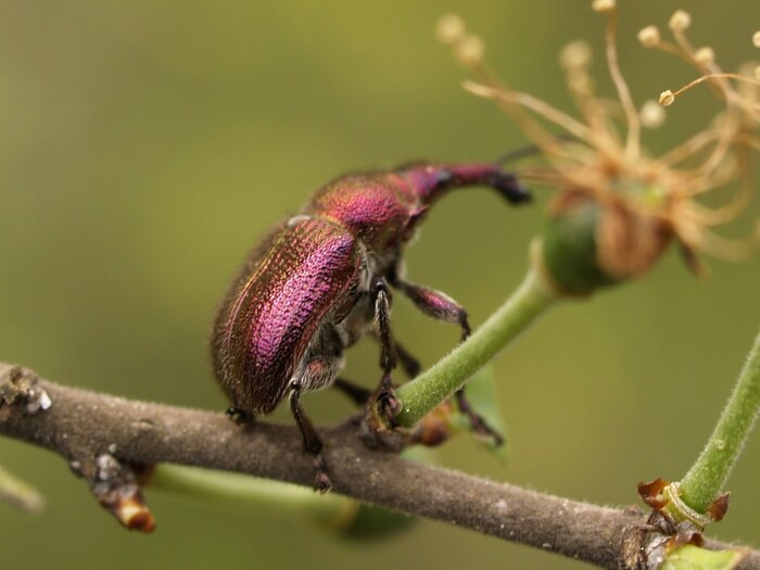
{"label": "brown woody branch that the weevil stands on", "polygon": [[[3,365],[0,363],[0,369]],[[39,381],[52,401],[27,414],[0,403],[0,435],[15,438],[77,461],[84,477],[96,457],[173,463],[311,485],[312,458],[290,426],[240,427],[221,414],[121,397]],[[409,515],[441,520],[603,568],[634,568],[644,515],[528,491],[461,472],[411,463],[368,448],[357,422],[320,429],[333,492]],[[726,547],[713,543],[713,546]],[[751,550],[740,569],[760,569]]]}

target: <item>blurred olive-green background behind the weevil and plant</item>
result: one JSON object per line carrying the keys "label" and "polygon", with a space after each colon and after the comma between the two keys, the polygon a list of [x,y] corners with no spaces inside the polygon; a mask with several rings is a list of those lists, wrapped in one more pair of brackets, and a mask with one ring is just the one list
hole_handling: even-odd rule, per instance
{"label": "blurred olive-green background behind the weevil and plant", "polygon": [[[270,225],[347,170],[490,160],[525,143],[492,104],[459,88],[465,72],[433,39],[436,17],[461,14],[514,86],[568,107],[556,62],[572,39],[593,43],[599,87],[611,93],[598,63],[604,20],[588,3],[3,0],[0,358],[62,383],[221,410],[206,333],[236,267]],[[692,79],[635,40],[646,24],[664,28],[682,3],[621,3],[621,62],[637,101]],[[758,56],[752,2],[688,4],[691,37],[725,67]],[[682,140],[718,106],[704,89],[683,99],[651,148]],[[547,191],[536,194],[520,211],[485,190],[452,195],[409,249],[409,277],[482,322],[524,271]],[[496,364],[509,463],[467,436],[447,444],[442,461],[613,505],[636,503],[639,480],[679,478],[760,322],[760,259],[708,263],[711,276],[698,280],[671,253],[642,282],[554,309]],[[393,324],[428,364],[458,338],[401,296]],[[377,381],[372,343],[351,351],[346,376]],[[351,409],[331,391],[305,405],[319,421]],[[283,410],[276,419],[290,421]],[[0,460],[49,502],[38,517],[0,505],[2,568],[580,566],[436,522],[349,543],[292,512],[150,490],[157,530],[139,535],[102,511],[58,456],[0,440]],[[758,469],[756,434],[712,535],[760,546]]]}

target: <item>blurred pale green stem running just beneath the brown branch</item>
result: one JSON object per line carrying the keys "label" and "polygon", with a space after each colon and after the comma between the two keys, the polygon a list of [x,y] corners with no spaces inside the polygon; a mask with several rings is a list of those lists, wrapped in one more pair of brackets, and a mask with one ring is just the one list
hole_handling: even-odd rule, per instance
{"label": "blurred pale green stem running just beneath the brown branch", "polygon": [[335,493],[319,495],[313,490],[251,476],[160,464],[149,486],[182,496],[252,505],[256,510],[291,509],[334,527],[353,521],[358,504]]}

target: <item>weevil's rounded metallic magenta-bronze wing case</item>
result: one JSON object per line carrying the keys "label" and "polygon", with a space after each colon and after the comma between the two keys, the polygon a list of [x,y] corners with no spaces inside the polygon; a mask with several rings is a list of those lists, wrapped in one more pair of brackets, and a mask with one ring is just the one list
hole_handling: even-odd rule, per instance
{"label": "weevil's rounded metallic magenta-bronze wing case", "polygon": [[254,251],[212,333],[214,371],[236,407],[277,407],[320,326],[350,308],[359,270],[355,238],[325,219],[280,228]]}

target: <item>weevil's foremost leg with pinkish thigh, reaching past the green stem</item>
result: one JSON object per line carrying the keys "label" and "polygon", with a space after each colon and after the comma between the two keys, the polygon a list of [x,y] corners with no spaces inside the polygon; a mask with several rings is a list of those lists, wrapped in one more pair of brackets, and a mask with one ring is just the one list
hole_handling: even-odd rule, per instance
{"label": "weevil's foremost leg with pinkish thigh, reaching past the green stem", "polygon": [[[394,276],[393,284],[408,296],[415,306],[426,315],[438,320],[458,324],[461,328],[461,342],[470,335],[471,329],[467,320],[467,311],[447,294],[428,289],[427,287],[409,283],[397,276]],[[457,390],[456,400],[459,409],[469,418],[472,430],[476,433],[493,438],[496,445],[502,445],[504,443],[502,434],[489,426],[485,420],[472,409],[470,403],[467,401],[467,396],[465,396],[464,388]]]}

